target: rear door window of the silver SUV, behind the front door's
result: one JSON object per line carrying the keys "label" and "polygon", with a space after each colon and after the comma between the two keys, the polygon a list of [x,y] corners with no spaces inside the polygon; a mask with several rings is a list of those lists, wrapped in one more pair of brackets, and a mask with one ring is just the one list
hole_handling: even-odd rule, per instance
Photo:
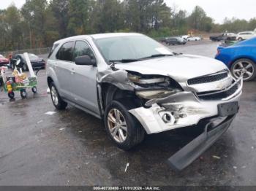
{"label": "rear door window of the silver SUV, behind the front door's", "polygon": [[61,61],[73,61],[73,47],[74,42],[67,42],[63,44],[59,49],[56,58]]}

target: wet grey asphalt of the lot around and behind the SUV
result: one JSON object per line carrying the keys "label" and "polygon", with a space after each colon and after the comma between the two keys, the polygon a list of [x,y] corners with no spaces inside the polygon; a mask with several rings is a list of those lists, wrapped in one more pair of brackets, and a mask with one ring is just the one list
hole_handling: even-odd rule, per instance
{"label": "wet grey asphalt of the lot around and behind the SUV", "polygon": [[[216,47],[206,42],[171,49],[214,57]],[[147,136],[138,147],[124,152],[111,143],[97,118],[73,107],[56,111],[46,93],[45,77],[40,71],[39,93],[29,90],[24,100],[16,93],[16,100],[9,101],[0,93],[0,185],[256,184],[256,82],[245,83],[241,111],[232,128],[176,173],[166,160],[193,139],[188,133]]]}

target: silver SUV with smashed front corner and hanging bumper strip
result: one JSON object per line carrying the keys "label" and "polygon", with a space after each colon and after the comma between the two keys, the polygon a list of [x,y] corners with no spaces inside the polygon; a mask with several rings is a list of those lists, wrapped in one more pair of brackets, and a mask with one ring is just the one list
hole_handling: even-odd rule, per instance
{"label": "silver SUV with smashed front corner and hanging bumper strip", "polygon": [[201,130],[170,157],[177,170],[229,128],[243,83],[219,61],[177,54],[142,34],[61,39],[53,44],[47,74],[56,109],[70,104],[104,120],[121,149],[140,144],[146,133]]}

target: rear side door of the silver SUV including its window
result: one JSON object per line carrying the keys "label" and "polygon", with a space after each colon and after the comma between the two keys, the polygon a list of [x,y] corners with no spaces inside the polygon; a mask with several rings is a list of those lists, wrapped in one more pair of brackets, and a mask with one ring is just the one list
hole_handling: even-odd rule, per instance
{"label": "rear side door of the silver SUV including its window", "polygon": [[75,63],[73,62],[74,46],[74,41],[64,43],[56,54],[56,62],[53,63],[59,80],[59,93],[69,101],[73,101],[72,80],[74,78],[73,71],[75,71]]}

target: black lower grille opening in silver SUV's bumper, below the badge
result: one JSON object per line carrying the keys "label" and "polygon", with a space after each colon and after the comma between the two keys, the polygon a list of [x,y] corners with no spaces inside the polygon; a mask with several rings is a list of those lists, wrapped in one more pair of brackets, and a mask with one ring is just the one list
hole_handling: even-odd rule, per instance
{"label": "black lower grille opening in silver SUV's bumper, below the badge", "polygon": [[238,90],[238,88],[240,87],[241,83],[236,83],[236,85],[233,85],[233,87],[231,87],[230,89],[226,90],[226,91],[221,91],[221,92],[216,92],[216,93],[197,93],[198,98],[200,98],[200,100],[219,100],[219,99],[223,99],[223,98],[227,98],[230,95],[233,95],[234,93],[236,93],[236,91]]}

